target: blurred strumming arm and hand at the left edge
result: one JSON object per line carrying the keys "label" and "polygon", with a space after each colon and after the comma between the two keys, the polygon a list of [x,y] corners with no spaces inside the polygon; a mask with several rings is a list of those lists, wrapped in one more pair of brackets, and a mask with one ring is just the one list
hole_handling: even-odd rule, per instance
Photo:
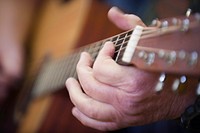
{"label": "blurred strumming arm and hand at the left edge", "polygon": [[23,75],[24,41],[36,0],[0,1],[0,105]]}

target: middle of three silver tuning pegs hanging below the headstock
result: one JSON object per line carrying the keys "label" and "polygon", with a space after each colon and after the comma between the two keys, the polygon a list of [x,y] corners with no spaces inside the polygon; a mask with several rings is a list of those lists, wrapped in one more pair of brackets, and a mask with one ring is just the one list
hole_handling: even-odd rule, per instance
{"label": "middle of three silver tuning pegs hanging below the headstock", "polygon": [[181,76],[179,79],[175,79],[174,83],[172,84],[172,90],[174,92],[183,92],[185,90],[185,83],[187,82],[186,76]]}

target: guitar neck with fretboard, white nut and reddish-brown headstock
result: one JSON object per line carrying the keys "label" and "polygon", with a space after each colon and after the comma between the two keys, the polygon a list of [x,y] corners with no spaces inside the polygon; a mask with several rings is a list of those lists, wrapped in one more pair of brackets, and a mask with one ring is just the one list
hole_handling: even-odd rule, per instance
{"label": "guitar neck with fretboard, white nut and reddish-brown headstock", "polygon": [[[194,15],[186,19],[156,21],[153,27],[138,26],[130,31],[81,47],[62,58],[47,60],[42,64],[31,89],[31,99],[41,98],[63,88],[68,77],[76,77],[75,66],[80,53],[87,51],[95,59],[107,41],[114,43],[114,60],[121,65],[159,72],[162,73],[161,76],[164,72],[191,76],[198,80],[200,76],[199,18],[199,15]],[[161,88],[159,86],[157,90]],[[178,86],[175,89],[178,89]],[[20,116],[19,113],[20,108],[16,110],[17,117]],[[24,121],[23,123],[26,123],[26,120]]]}

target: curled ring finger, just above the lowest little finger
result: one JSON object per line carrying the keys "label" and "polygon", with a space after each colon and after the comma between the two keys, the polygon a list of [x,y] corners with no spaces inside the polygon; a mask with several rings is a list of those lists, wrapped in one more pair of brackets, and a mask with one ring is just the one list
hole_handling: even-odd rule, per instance
{"label": "curled ring finger, just above the lowest little finger", "polygon": [[72,103],[87,117],[100,121],[116,120],[115,109],[111,105],[98,102],[83,93],[78,81],[69,78],[66,86]]}

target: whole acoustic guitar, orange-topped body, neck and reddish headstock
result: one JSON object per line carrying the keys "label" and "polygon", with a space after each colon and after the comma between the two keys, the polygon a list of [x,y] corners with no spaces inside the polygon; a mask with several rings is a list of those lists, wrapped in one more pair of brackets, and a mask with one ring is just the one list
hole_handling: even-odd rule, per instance
{"label": "whole acoustic guitar, orange-topped body, neck and reddish headstock", "polygon": [[[29,70],[27,74],[27,79],[30,80],[26,81],[25,87],[22,89],[16,104],[15,120],[18,122],[18,132],[100,132],[83,126],[72,116],[71,109],[73,105],[70,102],[64,85],[67,77],[66,75],[62,75],[65,71],[61,71],[59,68],[68,68],[68,73],[66,72],[67,76],[75,76],[76,61],[74,60],[78,59],[79,52],[87,49],[88,52],[91,52],[92,56],[94,53],[95,58],[103,43],[109,39],[113,41],[117,55],[119,55],[117,60],[119,59],[118,61],[122,61],[123,63],[122,56],[126,54],[127,47],[131,47],[133,44],[131,37],[134,37],[135,33],[134,30],[131,30],[113,36],[122,31],[117,29],[107,19],[108,9],[109,8],[100,2],[100,0],[45,1],[41,13],[39,14],[31,41],[31,58],[28,64]],[[160,66],[160,71],[156,72],[166,71],[174,73],[173,68],[180,68],[178,65],[180,65],[180,62],[183,62],[185,66],[183,68],[186,69],[180,69],[181,71],[178,71],[178,74],[182,74],[185,70],[188,70],[188,65],[190,65],[192,66],[190,67],[191,70],[194,70],[197,74],[196,76],[199,76],[199,59],[196,58],[197,56],[191,58],[193,57],[192,55],[197,55],[200,51],[199,48],[196,48],[199,44],[197,34],[199,33],[199,20],[197,18],[195,21],[191,21],[190,25],[182,25],[183,20],[177,22],[180,23],[169,23],[169,27],[166,28],[162,27],[163,25],[161,25],[162,23],[159,21],[153,29],[149,29],[148,27],[144,28],[144,30],[141,31],[143,35],[140,41],[138,40],[138,46],[134,47],[136,54],[133,56],[129,54],[131,55],[128,55],[130,61],[127,62],[125,60],[125,63],[132,63],[132,65],[135,65],[137,68],[142,68],[147,71],[156,71],[157,68],[162,65]],[[185,31],[183,31],[182,26],[186,26],[186,29],[184,29]],[[189,31],[187,31],[187,28]],[[107,38],[110,36],[113,37]],[[185,39],[181,39],[181,37]],[[107,39],[99,41],[104,38]],[[159,40],[158,38],[161,39]],[[164,43],[162,40],[163,38],[166,40]],[[151,40],[152,44],[149,44]],[[181,40],[184,40],[184,43],[181,42]],[[191,43],[191,40],[194,44],[188,45]],[[66,61],[68,64],[59,64],[59,62],[54,61],[60,57],[69,55],[74,49],[92,42],[96,42],[96,44],[89,45],[89,47],[85,47],[86,49],[80,49],[79,52],[76,51],[79,54],[70,55],[72,58],[68,60],[69,62]],[[155,47],[153,47],[154,44],[156,45]],[[170,44],[171,47],[168,47],[167,44]],[[181,47],[186,50],[186,52],[184,52],[186,56],[183,58],[171,58],[171,52],[175,52],[175,55],[178,55],[182,50],[176,49],[173,45],[179,48],[180,44]],[[192,46],[192,49],[189,49],[188,46]],[[93,48],[96,49],[96,51]],[[197,51],[192,52],[193,50]],[[164,56],[159,56],[160,52],[164,52]],[[63,62],[65,61],[64,59],[59,61]],[[136,59],[136,61],[134,59]],[[188,62],[190,64],[188,64]],[[53,63],[56,66],[55,68],[51,67]],[[138,63],[139,65],[137,65]],[[156,63],[157,66],[155,67]],[[167,63],[171,64],[169,65]],[[51,90],[50,88],[52,86],[54,87],[53,83],[60,79],[59,76],[64,77],[64,80],[61,82],[62,87],[55,88],[57,91],[48,91],[48,89]],[[32,82],[34,81],[33,79],[36,79],[36,84]],[[31,85],[33,85],[33,87]],[[179,86],[174,88],[178,89]],[[162,87],[158,90],[161,89]],[[51,93],[44,93],[44,90]],[[36,93],[30,94],[30,92]],[[42,92],[42,95],[40,95],[40,92]]]}

